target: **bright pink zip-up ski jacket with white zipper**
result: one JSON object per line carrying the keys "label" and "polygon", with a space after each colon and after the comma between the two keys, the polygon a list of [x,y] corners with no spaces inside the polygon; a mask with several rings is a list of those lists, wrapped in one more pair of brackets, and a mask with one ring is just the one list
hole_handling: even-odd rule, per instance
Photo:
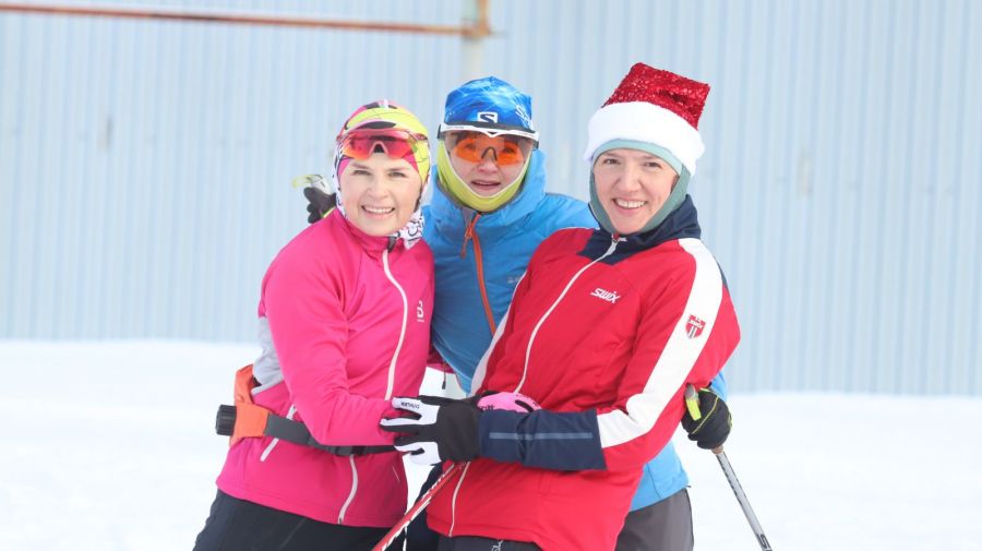
{"label": "bright pink zip-up ski jacket with white zipper", "polygon": [[[433,255],[368,236],[334,211],[290,241],[263,279],[253,399],[325,445],[388,445],[392,396],[419,391]],[[398,453],[337,456],[271,438],[229,448],[218,488],[316,520],[392,526],[406,510]]]}

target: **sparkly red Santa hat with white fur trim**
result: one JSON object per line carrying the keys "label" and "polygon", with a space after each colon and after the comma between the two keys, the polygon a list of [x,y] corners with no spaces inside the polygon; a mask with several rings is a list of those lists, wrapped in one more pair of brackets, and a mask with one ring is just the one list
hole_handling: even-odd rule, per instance
{"label": "sparkly red Santa hat with white fur trim", "polygon": [[643,142],[668,149],[695,175],[705,151],[698,124],[708,95],[708,84],[635,63],[590,118],[584,159],[592,166],[598,149],[615,140]]}

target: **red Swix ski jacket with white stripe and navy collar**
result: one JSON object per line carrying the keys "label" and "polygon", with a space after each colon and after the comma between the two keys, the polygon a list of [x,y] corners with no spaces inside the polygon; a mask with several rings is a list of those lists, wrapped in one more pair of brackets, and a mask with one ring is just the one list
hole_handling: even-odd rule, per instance
{"label": "red Swix ski jacket with white stripe and navy collar", "polygon": [[679,426],[684,386],[706,386],[740,339],[698,232],[686,199],[646,235],[566,229],[542,242],[475,387],[543,409],[482,414],[481,458],[433,499],[432,528],[614,549],[642,467]]}

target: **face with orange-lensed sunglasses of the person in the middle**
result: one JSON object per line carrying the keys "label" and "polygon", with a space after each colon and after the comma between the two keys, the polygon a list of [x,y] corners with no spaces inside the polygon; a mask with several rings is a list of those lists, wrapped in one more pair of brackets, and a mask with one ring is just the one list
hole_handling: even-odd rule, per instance
{"label": "face with orange-lensed sunglasses of the person in the middle", "polygon": [[532,148],[532,141],[525,137],[490,139],[478,132],[448,133],[444,143],[454,171],[483,197],[494,195],[522,176]]}

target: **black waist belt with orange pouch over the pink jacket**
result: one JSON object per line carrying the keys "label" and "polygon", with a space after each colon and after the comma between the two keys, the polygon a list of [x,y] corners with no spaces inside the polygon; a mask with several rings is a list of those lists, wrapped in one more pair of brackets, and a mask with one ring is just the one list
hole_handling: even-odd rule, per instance
{"label": "black waist belt with orange pouch over the pink jacket", "polygon": [[[272,436],[285,440],[301,446],[314,447],[330,452],[334,455],[368,455],[395,452],[393,446],[328,446],[321,444],[310,434],[310,430],[301,421],[287,419],[270,412],[268,410],[252,404],[244,405],[247,409],[258,408],[265,412],[265,423],[260,428],[256,423],[250,423],[251,427],[243,431],[240,424],[240,416],[236,406],[218,406],[218,414],[215,417],[215,432],[223,436]],[[253,417],[253,416],[248,416]]]}

